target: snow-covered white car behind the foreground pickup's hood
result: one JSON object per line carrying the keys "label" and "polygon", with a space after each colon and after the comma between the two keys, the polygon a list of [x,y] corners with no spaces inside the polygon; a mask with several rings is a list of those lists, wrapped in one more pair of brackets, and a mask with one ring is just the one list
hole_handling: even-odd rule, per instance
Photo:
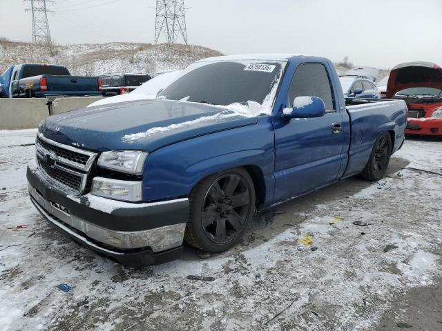
{"label": "snow-covered white car behind the foreground pickup's hood", "polygon": [[115,97],[107,97],[90,103],[88,107],[103,106],[124,101],[155,99],[158,92],[169,86],[169,84],[175,81],[180,74],[181,70],[161,74],[160,76],[146,81],[146,83],[143,83],[139,88],[135,88],[131,93],[119,94],[115,95]]}

